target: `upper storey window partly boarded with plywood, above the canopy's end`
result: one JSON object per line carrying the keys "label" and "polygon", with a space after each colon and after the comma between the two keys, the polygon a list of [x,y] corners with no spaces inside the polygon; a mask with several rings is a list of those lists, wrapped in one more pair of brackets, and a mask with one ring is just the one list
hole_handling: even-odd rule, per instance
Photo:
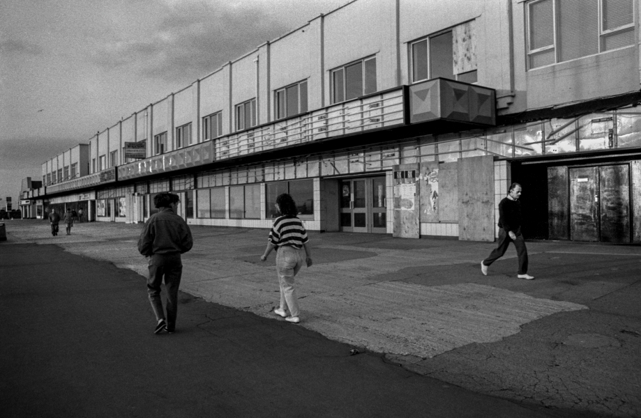
{"label": "upper storey window partly boarded with plywood, above the canopy's end", "polygon": [[476,83],[474,21],[410,44],[412,82],[443,77]]}

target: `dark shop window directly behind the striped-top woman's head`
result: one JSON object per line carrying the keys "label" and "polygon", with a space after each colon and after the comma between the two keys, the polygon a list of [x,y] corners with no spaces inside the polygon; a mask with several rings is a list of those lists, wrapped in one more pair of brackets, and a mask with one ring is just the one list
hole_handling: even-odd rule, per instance
{"label": "dark shop window directly behind the striped-top woman's head", "polygon": [[265,187],[265,217],[278,217],[276,198],[288,193],[296,202],[298,216],[301,219],[314,219],[314,182],[313,180],[278,181],[267,183]]}

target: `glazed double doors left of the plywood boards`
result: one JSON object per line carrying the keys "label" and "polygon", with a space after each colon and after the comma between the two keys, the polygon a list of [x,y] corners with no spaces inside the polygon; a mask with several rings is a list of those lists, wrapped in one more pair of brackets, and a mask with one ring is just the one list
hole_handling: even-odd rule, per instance
{"label": "glazed double doors left of the plywood boards", "polygon": [[340,183],[340,230],[387,232],[385,177],[354,178]]}

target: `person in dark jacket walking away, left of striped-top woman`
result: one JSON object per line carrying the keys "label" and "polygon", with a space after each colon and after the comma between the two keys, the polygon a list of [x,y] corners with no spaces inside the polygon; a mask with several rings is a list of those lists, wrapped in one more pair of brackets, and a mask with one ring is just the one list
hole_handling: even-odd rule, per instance
{"label": "person in dark jacket walking away, left of striped-top woman", "polygon": [[[183,272],[181,254],[193,246],[193,238],[187,222],[176,215],[179,197],[177,194],[163,192],[153,197],[158,212],[145,222],[138,240],[138,251],[149,258],[149,279],[147,293],[149,302],[156,315],[155,334],[176,330],[178,314],[178,289]],[[165,277],[167,290],[167,318],[160,297],[160,285]]]}

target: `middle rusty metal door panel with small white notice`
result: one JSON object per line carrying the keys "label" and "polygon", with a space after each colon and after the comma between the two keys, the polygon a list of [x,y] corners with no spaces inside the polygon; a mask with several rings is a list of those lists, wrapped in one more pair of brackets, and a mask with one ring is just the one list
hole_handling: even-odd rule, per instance
{"label": "middle rusty metal door panel with small white notice", "polygon": [[570,238],[598,241],[597,167],[570,169]]}

